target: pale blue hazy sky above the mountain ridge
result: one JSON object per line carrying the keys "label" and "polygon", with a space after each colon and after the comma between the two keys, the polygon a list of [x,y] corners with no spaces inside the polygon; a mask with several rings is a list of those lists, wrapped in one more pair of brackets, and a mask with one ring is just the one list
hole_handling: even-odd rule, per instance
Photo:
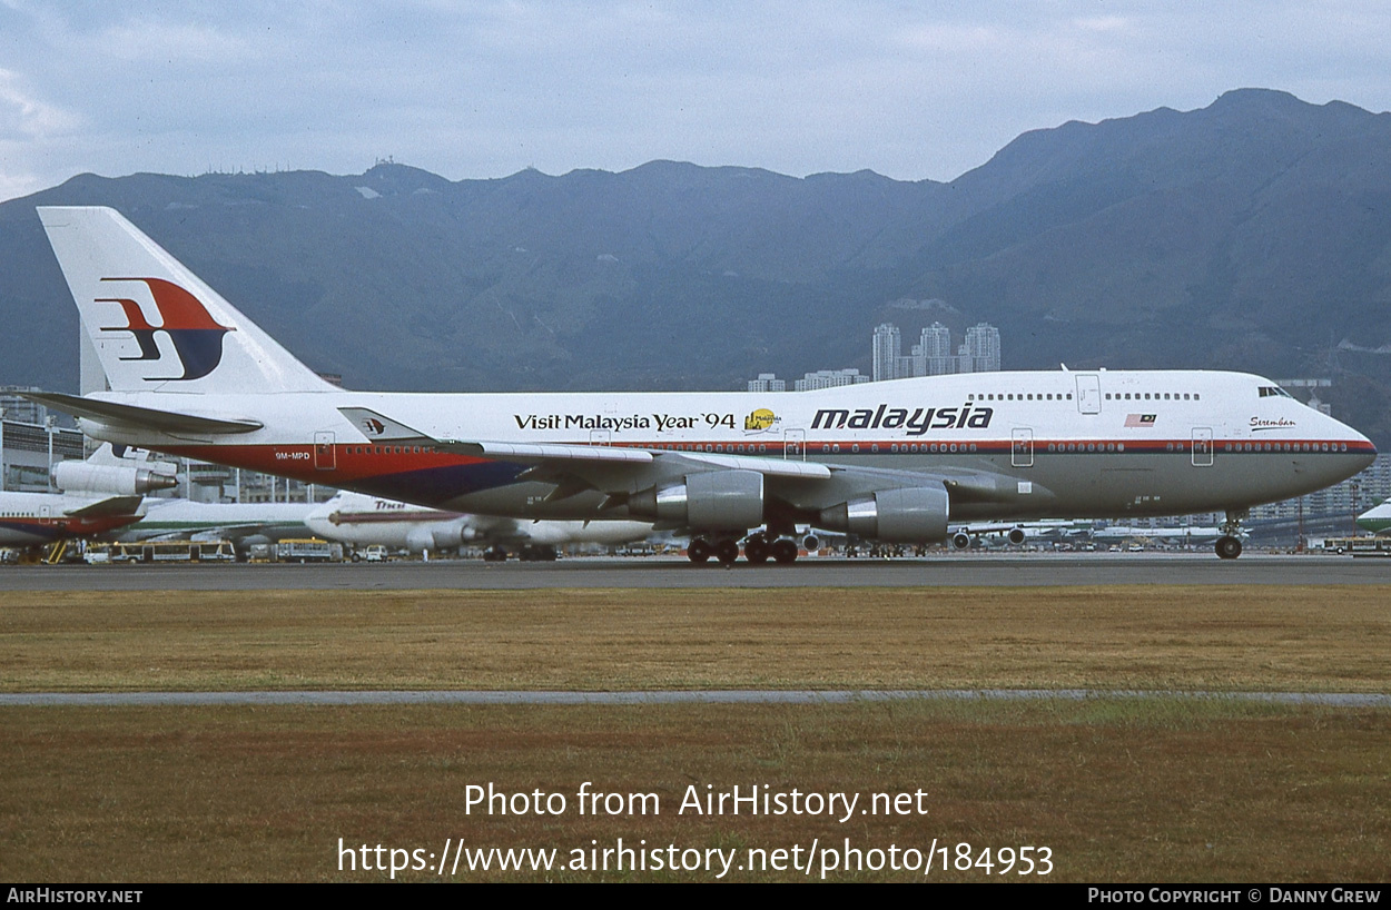
{"label": "pale blue hazy sky above the mountain ridge", "polygon": [[0,199],[95,171],[654,159],[951,179],[1234,88],[1391,107],[1384,0],[0,0]]}

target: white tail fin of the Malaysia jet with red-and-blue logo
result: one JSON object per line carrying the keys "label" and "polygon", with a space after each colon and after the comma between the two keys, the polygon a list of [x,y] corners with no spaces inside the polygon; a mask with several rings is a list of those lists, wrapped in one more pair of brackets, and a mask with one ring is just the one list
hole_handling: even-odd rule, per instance
{"label": "white tail fin of the Malaysia jet with red-and-blue logo", "polygon": [[113,391],[332,388],[115,210],[39,218]]}

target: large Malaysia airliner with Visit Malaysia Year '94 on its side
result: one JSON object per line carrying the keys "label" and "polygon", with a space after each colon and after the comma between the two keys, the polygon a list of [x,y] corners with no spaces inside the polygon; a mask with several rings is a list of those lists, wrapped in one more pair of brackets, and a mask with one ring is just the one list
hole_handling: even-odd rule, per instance
{"label": "large Malaysia airliner with Visit Malaysia Year '94 on its side", "polygon": [[798,523],[933,543],[949,522],[1225,511],[1372,463],[1257,376],[978,373],[812,392],[334,387],[111,209],[43,207],[111,391],[32,394],[85,433],[452,512],[654,522],[702,562],[797,557]]}

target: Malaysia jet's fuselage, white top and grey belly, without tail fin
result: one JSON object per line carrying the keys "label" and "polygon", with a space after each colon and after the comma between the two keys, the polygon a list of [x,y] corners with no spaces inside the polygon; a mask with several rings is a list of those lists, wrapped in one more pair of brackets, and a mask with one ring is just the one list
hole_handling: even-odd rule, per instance
{"label": "Malaysia jet's fuselage, white top and grey belly, without tail fin", "polygon": [[[437,440],[633,447],[822,462],[857,490],[903,474],[961,474],[951,518],[1038,519],[1242,509],[1337,483],[1376,454],[1360,433],[1221,372],[978,373],[815,392],[388,394],[106,392],[153,409],[253,417],[263,429],[192,438],[83,419],[89,434],[455,512],[625,519],[600,491],[548,498],[527,463],[383,445],[341,408]],[[849,487],[808,488],[825,508]],[[633,486],[636,486],[634,481]],[[949,483],[949,487],[951,484]],[[851,490],[850,493],[854,493]]]}

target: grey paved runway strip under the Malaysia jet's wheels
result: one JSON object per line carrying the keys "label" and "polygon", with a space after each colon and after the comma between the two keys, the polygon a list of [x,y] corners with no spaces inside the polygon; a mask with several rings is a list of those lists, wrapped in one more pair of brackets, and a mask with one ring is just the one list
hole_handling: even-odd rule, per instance
{"label": "grey paved runway strip under the Malaysia jet's wheels", "polygon": [[682,558],[335,565],[0,566],[0,591],[545,590],[786,587],[1052,587],[1079,584],[1388,584],[1391,559],[1212,554],[986,554],[810,558],[790,566],[694,566]]}

